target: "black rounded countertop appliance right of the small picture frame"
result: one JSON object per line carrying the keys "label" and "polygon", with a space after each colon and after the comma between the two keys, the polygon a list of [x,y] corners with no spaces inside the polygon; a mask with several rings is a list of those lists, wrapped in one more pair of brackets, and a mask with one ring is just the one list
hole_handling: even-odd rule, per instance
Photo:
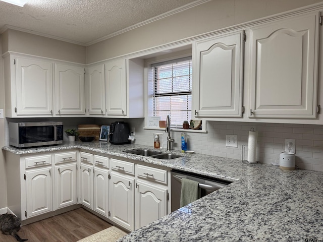
{"label": "black rounded countertop appliance right of the small picture frame", "polygon": [[125,122],[115,122],[110,126],[109,142],[114,145],[129,144],[130,129]]}

